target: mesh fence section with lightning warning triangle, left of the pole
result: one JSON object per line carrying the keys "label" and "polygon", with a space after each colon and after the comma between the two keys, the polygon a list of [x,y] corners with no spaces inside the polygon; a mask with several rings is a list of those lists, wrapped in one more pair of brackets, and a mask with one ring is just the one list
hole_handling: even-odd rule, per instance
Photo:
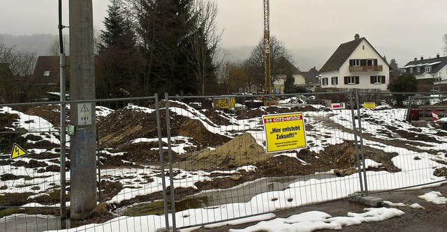
{"label": "mesh fence section with lightning warning triangle, left of the pole", "polygon": [[0,107],[0,231],[60,228],[59,110]]}

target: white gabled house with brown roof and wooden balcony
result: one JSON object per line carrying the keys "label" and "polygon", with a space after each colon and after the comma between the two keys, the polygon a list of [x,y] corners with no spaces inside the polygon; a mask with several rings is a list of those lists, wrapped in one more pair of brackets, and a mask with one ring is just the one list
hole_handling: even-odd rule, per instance
{"label": "white gabled house with brown roof and wooden balcony", "polygon": [[368,40],[358,34],[354,40],[339,45],[320,72],[321,88],[386,91],[390,82],[390,66]]}

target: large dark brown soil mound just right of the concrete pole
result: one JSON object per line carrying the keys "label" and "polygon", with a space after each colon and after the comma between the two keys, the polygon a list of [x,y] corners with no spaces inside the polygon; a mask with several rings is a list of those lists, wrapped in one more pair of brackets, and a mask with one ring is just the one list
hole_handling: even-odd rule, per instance
{"label": "large dark brown soil mound just right of the concrete pole", "polygon": [[[179,107],[184,106],[179,105]],[[175,112],[170,113],[170,118],[171,137],[191,137],[193,144],[191,148],[201,150],[204,147],[219,146],[230,141],[229,137],[214,134],[207,130],[198,119],[181,116]],[[160,120],[162,137],[166,137],[166,112],[161,111]],[[158,148],[158,142],[133,144],[134,139],[158,137],[155,112],[147,113],[135,109],[118,109],[103,118],[97,125],[102,148],[113,148],[114,152],[126,153],[119,157],[105,155],[109,165],[113,166],[114,162],[119,161],[119,159],[146,164],[159,162],[159,151],[150,149]],[[167,146],[167,144],[163,143],[163,146]],[[177,160],[178,155],[174,153],[173,157]]]}

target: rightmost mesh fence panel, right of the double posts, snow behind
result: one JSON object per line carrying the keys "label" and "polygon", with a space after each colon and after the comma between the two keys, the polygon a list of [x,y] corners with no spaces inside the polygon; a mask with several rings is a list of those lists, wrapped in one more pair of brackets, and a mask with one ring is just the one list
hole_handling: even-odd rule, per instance
{"label": "rightmost mesh fence panel, right of the double posts, snow behind", "polygon": [[372,95],[383,100],[375,102],[374,108],[359,110],[367,190],[397,190],[444,181],[447,133],[438,125],[441,122],[433,121],[432,113],[444,111],[446,95],[359,91],[358,101],[364,103],[362,99]]}

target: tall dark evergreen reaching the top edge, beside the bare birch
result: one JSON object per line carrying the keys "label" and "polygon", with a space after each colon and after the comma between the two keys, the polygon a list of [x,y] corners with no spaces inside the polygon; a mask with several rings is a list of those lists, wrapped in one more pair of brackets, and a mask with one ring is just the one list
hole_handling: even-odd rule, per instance
{"label": "tall dark evergreen reaching the top edge, beside the bare birch", "polygon": [[138,15],[138,33],[145,59],[143,86],[150,91],[196,93],[186,52],[186,22],[191,0],[144,0]]}

